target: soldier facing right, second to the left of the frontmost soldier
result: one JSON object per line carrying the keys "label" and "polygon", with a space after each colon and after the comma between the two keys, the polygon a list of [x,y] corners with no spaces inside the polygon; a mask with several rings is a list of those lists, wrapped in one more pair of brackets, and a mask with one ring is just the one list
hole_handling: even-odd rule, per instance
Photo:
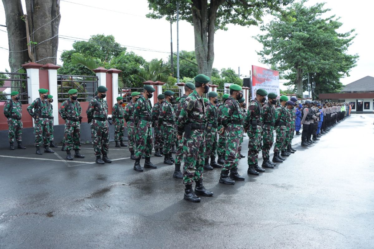
{"label": "soldier facing right, second to the left of the frontmost soldier", "polygon": [[172,160],[172,145],[174,144],[174,125],[175,125],[175,113],[171,102],[174,101],[174,91],[166,90],[164,93],[165,101],[161,103],[159,120],[157,125],[162,133],[163,140],[163,152],[164,152],[164,164],[173,165],[174,159]]}

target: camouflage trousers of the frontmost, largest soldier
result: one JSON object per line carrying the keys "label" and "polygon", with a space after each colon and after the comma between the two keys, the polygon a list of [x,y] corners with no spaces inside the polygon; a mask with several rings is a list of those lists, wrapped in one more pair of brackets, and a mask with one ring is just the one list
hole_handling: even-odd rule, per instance
{"label": "camouflage trousers of the frontmost, largest soldier", "polygon": [[193,135],[183,140],[183,183],[190,185],[203,179],[205,140],[197,140]]}

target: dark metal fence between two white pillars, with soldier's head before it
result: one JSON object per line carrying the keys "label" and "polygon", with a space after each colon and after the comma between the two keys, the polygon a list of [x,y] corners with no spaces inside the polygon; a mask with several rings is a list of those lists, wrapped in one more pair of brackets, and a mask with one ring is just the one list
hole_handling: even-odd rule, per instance
{"label": "dark metal fence between two white pillars, with soldier's head before it", "polygon": [[68,91],[77,89],[78,101],[89,101],[95,97],[98,77],[85,75],[57,75],[57,97],[59,102],[69,98]]}

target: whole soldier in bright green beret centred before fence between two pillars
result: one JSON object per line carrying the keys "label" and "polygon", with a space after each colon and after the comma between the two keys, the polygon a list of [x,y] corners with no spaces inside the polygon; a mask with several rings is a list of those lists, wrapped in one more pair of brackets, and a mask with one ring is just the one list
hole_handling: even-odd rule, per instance
{"label": "whole soldier in bright green beret centred before fence between two pillars", "polygon": [[70,89],[68,91],[69,99],[62,102],[58,113],[61,118],[65,120],[65,136],[64,136],[64,147],[66,150],[66,159],[73,160],[70,150],[74,148],[75,158],[85,158],[85,156],[80,155],[80,123],[82,122],[82,107],[77,100],[77,90]]}

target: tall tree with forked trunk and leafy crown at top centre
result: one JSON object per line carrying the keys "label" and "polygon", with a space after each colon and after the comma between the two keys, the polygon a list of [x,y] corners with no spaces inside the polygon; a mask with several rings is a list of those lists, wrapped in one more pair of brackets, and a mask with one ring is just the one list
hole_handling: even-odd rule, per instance
{"label": "tall tree with forked trunk and leafy crown at top centre", "polygon": [[[153,10],[147,17],[176,20],[178,0],[148,0]],[[227,24],[241,26],[258,25],[264,14],[280,10],[292,0],[179,0],[180,19],[193,25],[195,53],[199,73],[209,77],[214,61],[214,34],[226,30]]]}

